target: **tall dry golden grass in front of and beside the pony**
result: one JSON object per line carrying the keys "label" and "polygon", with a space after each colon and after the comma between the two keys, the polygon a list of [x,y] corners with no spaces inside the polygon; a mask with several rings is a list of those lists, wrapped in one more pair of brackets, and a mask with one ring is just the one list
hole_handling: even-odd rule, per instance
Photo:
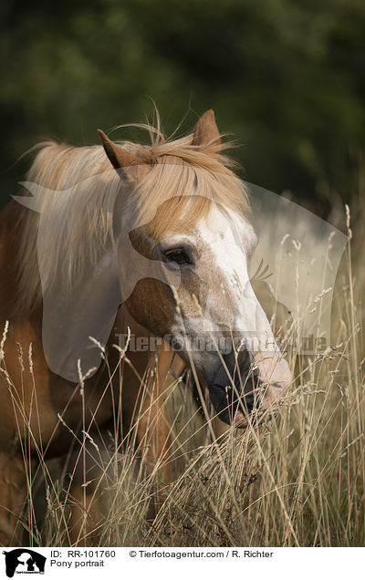
{"label": "tall dry golden grass in front of and beside the pony", "polygon": [[[349,223],[348,233],[350,237]],[[97,441],[81,436],[80,461],[88,443],[103,471],[97,483],[105,516],[98,528],[100,545],[364,545],[365,359],[361,288],[353,267],[349,246],[335,296],[336,347],[311,358],[291,354],[297,378],[276,416],[258,427],[227,430],[214,440],[189,385],[175,381],[166,402],[174,482],[163,485],[163,458],[150,474],[144,467],[143,455],[156,428],[153,417],[140,446],[136,430],[118,443],[111,435],[109,454]],[[149,388],[153,380],[147,372],[141,388]],[[43,478],[34,478],[26,449],[25,443],[25,543],[67,545],[75,501],[68,478],[42,461]],[[88,484],[86,473],[84,477]],[[160,505],[151,522],[149,504],[157,489]],[[80,503],[82,512],[86,492]],[[90,544],[92,534],[83,533],[86,528],[79,542]]]}

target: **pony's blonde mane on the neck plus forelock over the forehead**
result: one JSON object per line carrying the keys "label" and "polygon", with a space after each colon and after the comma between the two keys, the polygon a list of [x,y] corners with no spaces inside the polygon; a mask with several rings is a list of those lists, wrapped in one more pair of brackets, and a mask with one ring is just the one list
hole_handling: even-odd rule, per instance
{"label": "pony's blonde mane on the neck plus forelock over the forehead", "polygon": [[[149,223],[149,233],[156,239],[172,227],[191,227],[207,215],[211,201],[243,215],[249,213],[245,185],[232,171],[233,161],[224,155],[232,143],[196,146],[193,134],[166,138],[159,122],[157,127],[133,126],[147,129],[151,143],[117,141],[143,161],[127,169],[125,179],[111,168],[101,145],[41,144],[26,177],[27,183],[36,184],[36,212],[25,212],[22,223],[22,309],[31,310],[41,300],[39,271],[43,292],[55,283],[55,273],[65,284],[60,291],[67,291],[81,279],[86,264],[98,263],[113,239],[117,199],[133,203],[133,227]],[[126,187],[127,182],[132,187]],[[33,187],[28,189],[34,193]],[[163,211],[158,212],[161,207]],[[37,247],[38,231],[42,243]]]}

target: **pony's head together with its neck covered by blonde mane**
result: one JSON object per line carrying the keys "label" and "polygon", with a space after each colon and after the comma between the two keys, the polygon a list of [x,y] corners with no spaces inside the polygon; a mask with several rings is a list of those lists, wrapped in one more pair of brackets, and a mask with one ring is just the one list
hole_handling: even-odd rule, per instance
{"label": "pony's head together with its neck covered by blonde mane", "polygon": [[25,302],[43,300],[57,374],[78,381],[79,367],[99,367],[89,337],[104,347],[123,303],[193,368],[220,419],[242,426],[292,379],[248,276],[257,238],[245,185],[212,110],[180,140],[149,129],[150,146],[99,131],[102,147],[51,143],[38,154],[26,182],[34,197],[16,198],[36,210],[20,288]]}

